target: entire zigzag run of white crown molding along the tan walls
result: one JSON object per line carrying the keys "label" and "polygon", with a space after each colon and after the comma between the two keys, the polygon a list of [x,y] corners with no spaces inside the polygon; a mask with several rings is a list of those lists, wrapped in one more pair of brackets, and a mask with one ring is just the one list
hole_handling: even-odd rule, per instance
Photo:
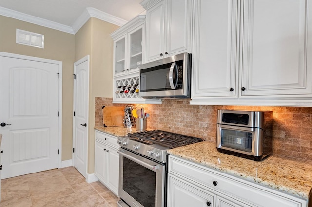
{"label": "entire zigzag run of white crown molding along the tan walls", "polygon": [[113,15],[91,7],[86,8],[71,27],[64,24],[56,23],[54,21],[27,15],[4,7],[0,7],[0,15],[19,19],[21,21],[26,21],[33,24],[38,24],[43,27],[48,27],[70,34],[76,34],[78,30],[89,20],[90,17],[95,17],[100,20],[116,24],[118,26],[122,26],[127,23],[127,21],[124,19],[115,17]]}

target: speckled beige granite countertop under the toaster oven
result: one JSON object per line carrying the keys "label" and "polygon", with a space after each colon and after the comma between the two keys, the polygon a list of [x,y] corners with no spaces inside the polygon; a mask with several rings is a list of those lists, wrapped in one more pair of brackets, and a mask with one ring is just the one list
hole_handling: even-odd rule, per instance
{"label": "speckled beige granite countertop under the toaster oven", "polygon": [[220,153],[209,141],[170,149],[168,153],[307,200],[312,193],[312,165],[303,161],[276,156],[253,161]]}

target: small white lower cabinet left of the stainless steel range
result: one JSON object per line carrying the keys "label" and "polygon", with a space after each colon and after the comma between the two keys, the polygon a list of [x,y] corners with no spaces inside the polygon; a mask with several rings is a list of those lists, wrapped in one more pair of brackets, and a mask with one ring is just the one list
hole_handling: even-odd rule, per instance
{"label": "small white lower cabinet left of the stainless steel range", "polygon": [[96,130],[94,173],[98,179],[118,196],[119,145],[117,137]]}

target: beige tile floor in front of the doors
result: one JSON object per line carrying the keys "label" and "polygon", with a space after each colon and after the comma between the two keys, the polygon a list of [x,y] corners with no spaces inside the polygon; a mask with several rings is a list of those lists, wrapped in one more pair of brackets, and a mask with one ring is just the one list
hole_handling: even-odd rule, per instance
{"label": "beige tile floor in front of the doors", "polygon": [[1,180],[1,207],[117,207],[117,201],[102,183],[87,183],[74,167]]}

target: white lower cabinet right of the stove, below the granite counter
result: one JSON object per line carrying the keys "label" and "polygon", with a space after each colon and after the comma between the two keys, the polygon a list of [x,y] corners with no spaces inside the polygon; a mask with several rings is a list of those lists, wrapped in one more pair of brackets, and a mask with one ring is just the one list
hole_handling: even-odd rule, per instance
{"label": "white lower cabinet right of the stove, below the granite counter", "polygon": [[168,207],[308,207],[308,201],[169,155]]}

